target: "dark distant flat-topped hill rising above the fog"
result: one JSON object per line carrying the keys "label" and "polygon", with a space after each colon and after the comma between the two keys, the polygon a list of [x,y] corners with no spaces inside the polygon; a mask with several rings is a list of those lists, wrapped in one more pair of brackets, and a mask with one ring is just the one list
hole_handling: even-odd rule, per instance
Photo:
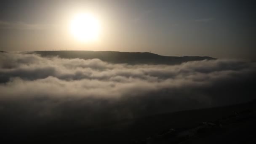
{"label": "dark distant flat-topped hill rising above the fog", "polygon": [[149,52],[119,51],[30,51],[43,57],[59,56],[65,59],[101,59],[102,61],[120,64],[181,64],[187,61],[213,60],[208,56],[161,56]]}

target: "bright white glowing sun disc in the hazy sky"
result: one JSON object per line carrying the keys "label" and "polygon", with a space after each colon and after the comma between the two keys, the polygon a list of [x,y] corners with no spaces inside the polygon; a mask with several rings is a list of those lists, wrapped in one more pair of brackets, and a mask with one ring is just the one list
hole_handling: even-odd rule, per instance
{"label": "bright white glowing sun disc in the hazy sky", "polygon": [[76,40],[82,42],[96,41],[100,33],[100,23],[89,13],[79,13],[71,20],[70,30]]}

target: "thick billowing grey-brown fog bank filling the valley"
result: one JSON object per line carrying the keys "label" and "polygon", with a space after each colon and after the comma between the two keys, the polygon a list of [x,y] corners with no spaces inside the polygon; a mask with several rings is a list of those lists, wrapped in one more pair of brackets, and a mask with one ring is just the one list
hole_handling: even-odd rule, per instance
{"label": "thick billowing grey-brown fog bank filling the valley", "polygon": [[255,99],[255,73],[241,60],[128,65],[0,53],[1,125],[92,125],[242,103]]}

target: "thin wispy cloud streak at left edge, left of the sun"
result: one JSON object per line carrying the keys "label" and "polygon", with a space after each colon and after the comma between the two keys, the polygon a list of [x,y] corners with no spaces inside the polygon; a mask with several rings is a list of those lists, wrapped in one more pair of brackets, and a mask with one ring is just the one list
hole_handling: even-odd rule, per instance
{"label": "thin wispy cloud streak at left edge, left of the sun", "polygon": [[40,30],[49,29],[53,24],[28,24],[24,22],[0,21],[0,29]]}

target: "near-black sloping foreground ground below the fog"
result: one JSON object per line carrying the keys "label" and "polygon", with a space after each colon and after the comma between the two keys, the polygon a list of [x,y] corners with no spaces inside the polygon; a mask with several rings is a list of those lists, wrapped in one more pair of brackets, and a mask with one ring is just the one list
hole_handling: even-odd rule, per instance
{"label": "near-black sloping foreground ground below the fog", "polygon": [[[35,133],[17,131],[2,141],[88,144],[255,144],[256,101],[124,120],[91,128],[59,130],[47,125]],[[60,125],[61,126],[61,125]],[[63,125],[65,127],[65,125]]]}

